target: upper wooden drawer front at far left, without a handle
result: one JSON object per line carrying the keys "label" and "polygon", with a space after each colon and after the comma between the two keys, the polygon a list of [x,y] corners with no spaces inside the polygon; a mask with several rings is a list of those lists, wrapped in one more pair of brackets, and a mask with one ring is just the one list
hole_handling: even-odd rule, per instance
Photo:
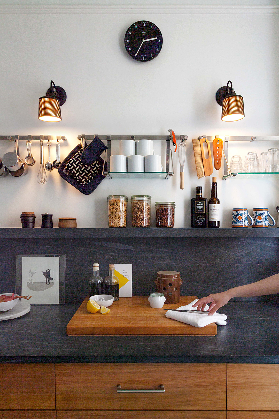
{"label": "upper wooden drawer front at far left, without a handle", "polygon": [[54,364],[2,364],[1,407],[55,409]]}

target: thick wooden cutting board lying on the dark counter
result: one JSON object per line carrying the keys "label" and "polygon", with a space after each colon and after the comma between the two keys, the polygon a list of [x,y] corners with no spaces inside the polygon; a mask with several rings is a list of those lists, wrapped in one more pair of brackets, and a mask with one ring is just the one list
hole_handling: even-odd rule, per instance
{"label": "thick wooden cutting board lying on the dark counter", "polygon": [[146,295],[122,297],[110,306],[110,313],[88,313],[88,297],[67,324],[67,335],[217,335],[217,326],[205,327],[167,318],[164,308],[178,308],[195,300],[195,295],[180,297],[180,303],[151,308]]}

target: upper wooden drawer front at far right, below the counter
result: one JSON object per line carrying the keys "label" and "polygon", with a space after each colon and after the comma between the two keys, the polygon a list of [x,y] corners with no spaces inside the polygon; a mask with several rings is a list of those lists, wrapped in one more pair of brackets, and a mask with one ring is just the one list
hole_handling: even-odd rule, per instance
{"label": "upper wooden drawer front at far right, below the counter", "polygon": [[228,364],[228,410],[279,410],[279,365]]}

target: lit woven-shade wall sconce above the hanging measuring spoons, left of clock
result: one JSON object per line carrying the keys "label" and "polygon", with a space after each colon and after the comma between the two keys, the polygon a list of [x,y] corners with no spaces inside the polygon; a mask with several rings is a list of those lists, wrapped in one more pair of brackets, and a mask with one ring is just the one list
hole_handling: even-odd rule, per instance
{"label": "lit woven-shade wall sconce above the hanging measuring spoons, left of clock", "polygon": [[64,105],[66,99],[67,95],[64,89],[56,86],[51,80],[46,96],[39,98],[39,119],[47,122],[61,121],[60,106]]}

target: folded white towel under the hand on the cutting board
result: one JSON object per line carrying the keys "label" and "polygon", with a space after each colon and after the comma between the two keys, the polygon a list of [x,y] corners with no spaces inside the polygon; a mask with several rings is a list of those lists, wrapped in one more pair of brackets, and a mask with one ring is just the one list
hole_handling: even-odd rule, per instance
{"label": "folded white towel under the hand on the cutting board", "polygon": [[[195,304],[197,300],[192,301],[192,303],[188,305],[182,305],[179,307],[179,310],[196,310],[192,308],[192,305]],[[204,310],[208,310],[209,305],[205,306]],[[196,314],[196,313],[182,313],[181,311],[166,311],[166,317],[173,318],[174,320],[182,321],[183,323],[191,324],[195,327],[204,327],[210,323],[215,322],[220,326],[225,326],[227,324],[227,316],[225,314],[214,313],[212,316],[208,316],[207,314]]]}

